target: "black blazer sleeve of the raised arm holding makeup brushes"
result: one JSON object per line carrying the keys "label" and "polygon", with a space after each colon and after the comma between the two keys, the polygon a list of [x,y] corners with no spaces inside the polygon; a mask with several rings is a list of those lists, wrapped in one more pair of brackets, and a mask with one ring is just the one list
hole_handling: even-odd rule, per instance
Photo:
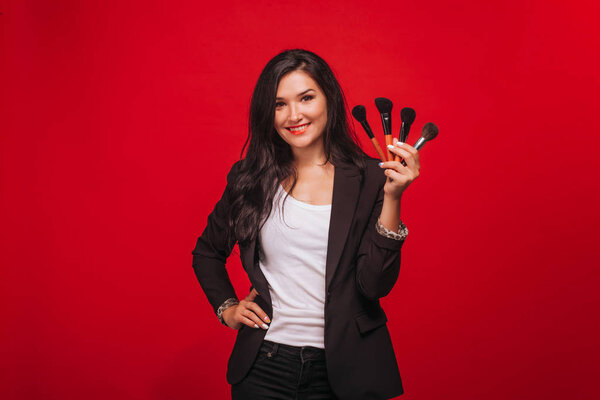
{"label": "black blazer sleeve of the raised arm holding makeup brushes", "polygon": [[404,240],[385,237],[376,230],[383,195],[381,186],[357,254],[356,285],[370,300],[387,296],[394,287],[400,273],[400,249],[404,244]]}

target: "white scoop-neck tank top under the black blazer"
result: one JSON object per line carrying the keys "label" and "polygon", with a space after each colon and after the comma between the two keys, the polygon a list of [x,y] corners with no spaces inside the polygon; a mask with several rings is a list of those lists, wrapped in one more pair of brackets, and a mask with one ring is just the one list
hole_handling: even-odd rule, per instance
{"label": "white scoop-neck tank top under the black blazer", "polygon": [[331,204],[287,196],[278,185],[259,233],[259,266],[269,284],[273,318],[266,340],[325,348],[325,262]]}

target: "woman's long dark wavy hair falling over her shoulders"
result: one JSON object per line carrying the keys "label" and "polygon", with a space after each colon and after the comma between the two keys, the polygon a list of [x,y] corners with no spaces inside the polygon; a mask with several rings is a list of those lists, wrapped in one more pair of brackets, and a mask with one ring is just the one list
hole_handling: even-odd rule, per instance
{"label": "woman's long dark wavy hair falling over her shoulders", "polygon": [[[297,172],[292,164],[290,146],[274,127],[275,98],[281,78],[302,70],[308,73],[327,99],[327,123],[323,142],[327,161],[356,165],[361,173],[366,154],[357,144],[346,112],[346,100],[333,71],[321,57],[307,50],[286,50],[273,57],[265,66],[252,94],[246,158],[240,162],[237,179],[230,192],[231,212],[229,232],[231,243],[247,244],[254,240],[271,213],[277,184],[292,177],[290,192],[296,185]],[[240,159],[242,159],[240,155]]]}

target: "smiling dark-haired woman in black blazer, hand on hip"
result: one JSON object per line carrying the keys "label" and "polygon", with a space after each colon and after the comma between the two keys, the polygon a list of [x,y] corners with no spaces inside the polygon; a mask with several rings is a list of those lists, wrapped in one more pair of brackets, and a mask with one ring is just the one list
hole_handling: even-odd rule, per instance
{"label": "smiling dark-haired woman in black blazer, hand on hip", "polygon": [[[219,320],[238,330],[232,398],[402,394],[379,298],[398,277],[408,233],[400,199],[419,175],[417,151],[394,140],[390,151],[406,166],[368,157],[333,72],[306,50],[265,66],[249,125],[246,157],[193,251]],[[253,286],[242,301],[225,268],[236,242]]]}

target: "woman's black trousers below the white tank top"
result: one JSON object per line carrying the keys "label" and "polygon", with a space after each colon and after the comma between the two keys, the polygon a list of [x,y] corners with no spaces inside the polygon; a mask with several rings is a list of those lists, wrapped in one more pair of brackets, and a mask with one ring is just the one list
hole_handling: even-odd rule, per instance
{"label": "woman's black trousers below the white tank top", "polygon": [[232,400],[336,400],[329,387],[325,350],[264,340],[254,365],[231,385]]}

